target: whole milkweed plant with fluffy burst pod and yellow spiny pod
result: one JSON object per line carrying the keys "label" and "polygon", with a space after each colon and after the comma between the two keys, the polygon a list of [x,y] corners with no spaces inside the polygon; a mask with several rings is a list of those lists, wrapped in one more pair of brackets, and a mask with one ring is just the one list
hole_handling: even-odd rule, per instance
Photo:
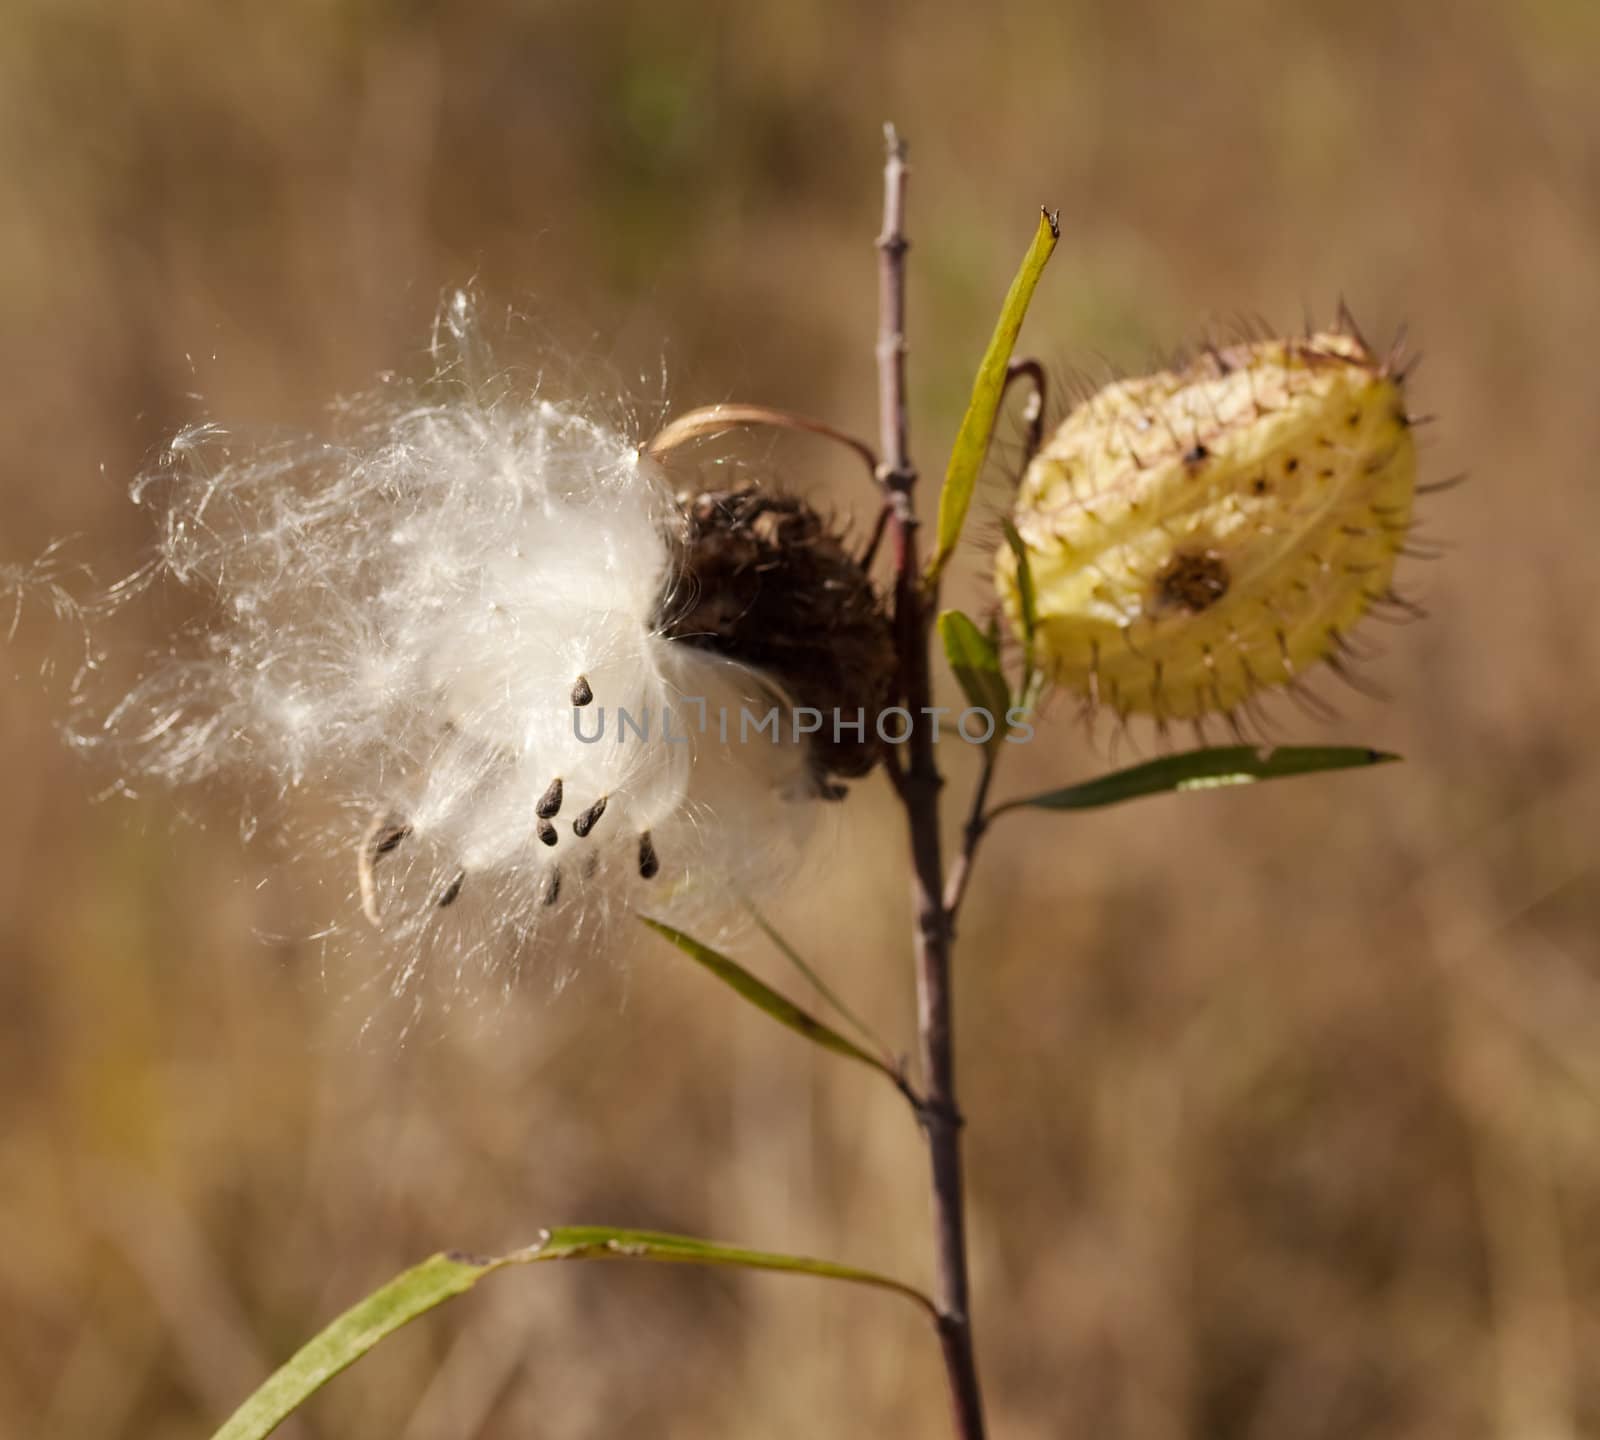
{"label": "whole milkweed plant with fluffy burst pod and yellow spiny pod", "polygon": [[[312,824],[331,949],[378,946],[400,998],[443,978],[509,984],[648,926],[790,1032],[893,1085],[930,1157],[933,1283],[686,1235],[541,1230],[494,1258],[442,1253],[293,1355],[218,1430],[258,1440],[397,1328],[485,1275],[558,1259],[782,1270],[877,1286],[933,1325],[954,1432],[984,1434],[952,1062],[955,920],[987,830],[1021,810],[1366,766],[1365,747],[1267,742],[1266,706],[1320,712],[1350,678],[1354,627],[1405,619],[1416,454],[1400,347],[1374,352],[1341,306],[1323,331],[1202,346],[1078,397],[1046,434],[1045,371],[1013,349],[1056,246],[1045,211],[1005,298],[938,496],[909,453],[904,147],[888,131],[877,443],[765,405],[691,410],[653,435],[528,395],[442,312],[438,373],[346,406],[338,442],[181,434],[134,499],[155,558],[94,606],[163,581],[210,598],[110,706],[70,728],[117,773],[256,794],[246,829]],[[986,614],[939,608],[1006,392],[1026,443]],[[870,526],[765,483],[678,490],[702,437],[768,426],[848,448]],[[867,490],[866,486],[870,486]],[[45,570],[0,571],[21,605]],[[962,691],[934,707],[934,656]],[[992,787],[1016,744],[1075,712],[1147,717],[1162,755],[1022,798]],[[981,765],[946,853],[941,734]],[[1194,736],[1194,749],[1176,741]],[[1213,736],[1221,744],[1213,744]],[[902,1059],[814,982],[806,1010],[746,970],[731,917],[789,877],[819,811],[882,774],[904,810],[918,1051]],[[314,819],[306,819],[314,814]],[[762,922],[765,925],[765,922]],[[770,928],[768,928],[770,930]],[[419,1002],[413,1002],[419,1003]]]}

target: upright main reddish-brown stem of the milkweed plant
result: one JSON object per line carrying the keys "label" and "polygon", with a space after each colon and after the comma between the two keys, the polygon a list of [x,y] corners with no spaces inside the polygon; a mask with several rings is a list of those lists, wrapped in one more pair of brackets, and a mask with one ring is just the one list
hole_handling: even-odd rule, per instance
{"label": "upright main reddish-brown stem of the milkweed plant", "polygon": [[878,235],[878,477],[890,499],[894,549],[894,645],[898,698],[912,715],[904,766],[886,757],[910,829],[917,957],[917,1034],[923,1074],[922,1123],[928,1136],[934,1232],[934,1302],[939,1344],[960,1440],[982,1440],[984,1413],[973,1355],[962,1195],[962,1114],[955,1104],[950,1005],[950,917],[944,906],[939,789],[944,781],[925,723],[931,706],[928,640],[933,597],[917,565],[917,518],[906,414],[906,147],[885,126],[883,232]]}

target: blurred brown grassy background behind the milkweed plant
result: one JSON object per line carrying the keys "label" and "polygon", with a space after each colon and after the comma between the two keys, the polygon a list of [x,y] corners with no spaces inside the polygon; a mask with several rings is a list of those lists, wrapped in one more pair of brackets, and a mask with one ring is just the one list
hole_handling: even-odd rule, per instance
{"label": "blurred brown grassy background behind the milkweed plant", "polygon": [[[1434,618],[1376,627],[1392,701],[1325,685],[1344,718],[1290,730],[1410,763],[994,837],[960,952],[981,1358],[1003,1437],[1595,1434],[1597,74],[1590,0],[3,0],[0,562],[78,534],[126,571],[126,482],[178,424],[317,424],[426,370],[474,278],[645,410],[664,365],[678,408],[870,432],[886,118],[933,475],[1042,200],[1066,238],[1026,344],[1061,368],[1341,293],[1408,320],[1426,478],[1472,474],[1424,510],[1454,549],[1403,574]],[[864,509],[848,466],[771,454]],[[232,798],[93,803],[54,731],[70,634],[30,606],[3,661],[0,1435],[203,1437],[403,1264],[547,1222],[926,1275],[886,1086],[659,949],[362,1045],[339,976],[253,938]],[[1045,739],[1003,792],[1106,763]],[[909,1045],[880,790],[778,918]],[[413,1326],[294,1434],[944,1424],[893,1299],[558,1267]]]}

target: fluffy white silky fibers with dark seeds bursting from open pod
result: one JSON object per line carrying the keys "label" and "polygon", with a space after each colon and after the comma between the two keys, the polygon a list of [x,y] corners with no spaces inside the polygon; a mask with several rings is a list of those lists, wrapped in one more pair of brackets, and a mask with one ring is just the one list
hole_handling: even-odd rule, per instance
{"label": "fluffy white silky fibers with dark seeds bursting from open pod", "polygon": [[[470,344],[462,302],[446,322]],[[659,634],[664,477],[475,370],[347,406],[339,442],[179,435],[134,498],[152,576],[214,606],[78,731],[125,773],[320,811],[323,936],[371,933],[397,992],[560,978],[634,909],[715,930],[814,808],[776,690]]]}

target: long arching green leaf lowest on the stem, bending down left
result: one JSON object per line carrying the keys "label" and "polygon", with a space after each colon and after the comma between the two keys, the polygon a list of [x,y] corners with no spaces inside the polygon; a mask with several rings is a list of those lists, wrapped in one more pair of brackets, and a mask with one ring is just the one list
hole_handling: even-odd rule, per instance
{"label": "long arching green leaf lowest on the stem, bending down left", "polygon": [[510,1254],[490,1258],[435,1254],[397,1275],[386,1286],[354,1304],[302,1346],[288,1363],[234,1411],[213,1440],[264,1440],[341,1370],[347,1370],[381,1339],[416,1320],[418,1315],[454,1299],[494,1270],[563,1259],[632,1259],[816,1275],[824,1280],[843,1280],[850,1285],[886,1290],[915,1301],[930,1315],[938,1315],[933,1301],[920,1290],[874,1270],[859,1270],[854,1266],[838,1266],[832,1261],[806,1259],[797,1254],[773,1254],[765,1250],[741,1250],[733,1245],[696,1240],[691,1235],[618,1230],[610,1226],[563,1226],[544,1230],[538,1245]]}

